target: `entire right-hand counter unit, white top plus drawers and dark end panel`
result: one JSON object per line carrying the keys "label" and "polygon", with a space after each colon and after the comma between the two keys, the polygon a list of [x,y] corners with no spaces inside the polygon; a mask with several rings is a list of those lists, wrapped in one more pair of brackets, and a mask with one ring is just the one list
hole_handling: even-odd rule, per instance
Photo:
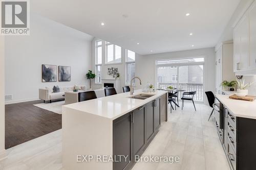
{"label": "entire right-hand counter unit, white top plus drawers and dark end panel", "polygon": [[217,133],[231,169],[255,169],[256,101],[220,94],[216,98],[220,102],[220,111],[215,111]]}

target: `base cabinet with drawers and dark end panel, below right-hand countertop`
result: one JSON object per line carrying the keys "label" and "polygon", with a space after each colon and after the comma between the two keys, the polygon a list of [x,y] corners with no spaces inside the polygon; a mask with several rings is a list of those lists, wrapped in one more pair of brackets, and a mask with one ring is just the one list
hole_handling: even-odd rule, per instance
{"label": "base cabinet with drawers and dark end panel, below right-hand countertop", "polygon": [[219,136],[232,170],[256,169],[256,119],[234,116],[223,104],[223,135]]}

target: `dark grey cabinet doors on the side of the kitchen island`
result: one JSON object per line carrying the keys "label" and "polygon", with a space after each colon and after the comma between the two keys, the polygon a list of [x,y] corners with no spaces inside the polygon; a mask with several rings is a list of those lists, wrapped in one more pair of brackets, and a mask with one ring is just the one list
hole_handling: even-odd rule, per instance
{"label": "dark grey cabinet doors on the side of the kitchen island", "polygon": [[[166,101],[165,95],[113,121],[113,156],[127,157],[113,162],[114,170],[131,169],[155,137],[161,125],[161,100]],[[166,105],[162,109],[166,112]]]}

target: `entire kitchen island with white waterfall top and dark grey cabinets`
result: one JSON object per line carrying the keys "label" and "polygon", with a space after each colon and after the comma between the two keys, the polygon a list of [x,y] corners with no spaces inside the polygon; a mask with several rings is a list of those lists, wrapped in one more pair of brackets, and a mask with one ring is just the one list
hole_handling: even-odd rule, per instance
{"label": "entire kitchen island with white waterfall top and dark grey cabinets", "polygon": [[136,90],[63,106],[63,168],[131,169],[167,120],[167,99]]}

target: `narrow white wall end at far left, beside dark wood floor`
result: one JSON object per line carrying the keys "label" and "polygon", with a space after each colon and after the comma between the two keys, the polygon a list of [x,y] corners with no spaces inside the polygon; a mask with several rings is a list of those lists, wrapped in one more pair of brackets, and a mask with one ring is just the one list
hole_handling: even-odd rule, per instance
{"label": "narrow white wall end at far left, beside dark wood floor", "polygon": [[0,36],[0,160],[5,158],[5,43]]}

